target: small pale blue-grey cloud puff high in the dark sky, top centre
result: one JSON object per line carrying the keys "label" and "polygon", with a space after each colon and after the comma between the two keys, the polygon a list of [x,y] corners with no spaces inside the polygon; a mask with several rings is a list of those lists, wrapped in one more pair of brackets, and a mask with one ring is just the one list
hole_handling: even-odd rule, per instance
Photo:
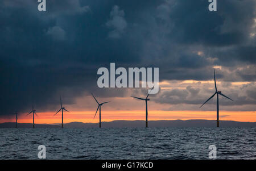
{"label": "small pale blue-grey cloud puff high in the dark sky, top centre", "polygon": [[109,37],[113,39],[118,39],[124,33],[125,28],[127,27],[127,22],[124,18],[125,12],[119,10],[117,5],[113,6],[112,11],[110,12],[110,20],[106,22],[106,26],[112,31],[109,32]]}

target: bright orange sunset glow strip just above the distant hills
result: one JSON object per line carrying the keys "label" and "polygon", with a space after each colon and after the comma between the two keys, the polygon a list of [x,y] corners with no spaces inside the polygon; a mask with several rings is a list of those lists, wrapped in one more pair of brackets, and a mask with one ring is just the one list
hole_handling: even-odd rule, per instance
{"label": "bright orange sunset glow strip just above the distant hills", "polygon": [[[93,119],[95,111],[73,111],[64,113],[64,123],[84,122],[98,123],[98,114]],[[102,111],[102,122],[110,122],[113,120],[144,120],[145,111]],[[189,119],[207,119],[216,120],[216,111],[149,111],[148,120],[189,120]],[[234,120],[240,122],[256,122],[255,111],[220,111],[220,120]],[[14,118],[0,118],[0,123],[15,122]],[[32,116],[21,114],[19,123],[32,123]],[[53,116],[52,112],[39,112],[35,116],[35,124],[53,124],[61,123],[61,114]]]}

